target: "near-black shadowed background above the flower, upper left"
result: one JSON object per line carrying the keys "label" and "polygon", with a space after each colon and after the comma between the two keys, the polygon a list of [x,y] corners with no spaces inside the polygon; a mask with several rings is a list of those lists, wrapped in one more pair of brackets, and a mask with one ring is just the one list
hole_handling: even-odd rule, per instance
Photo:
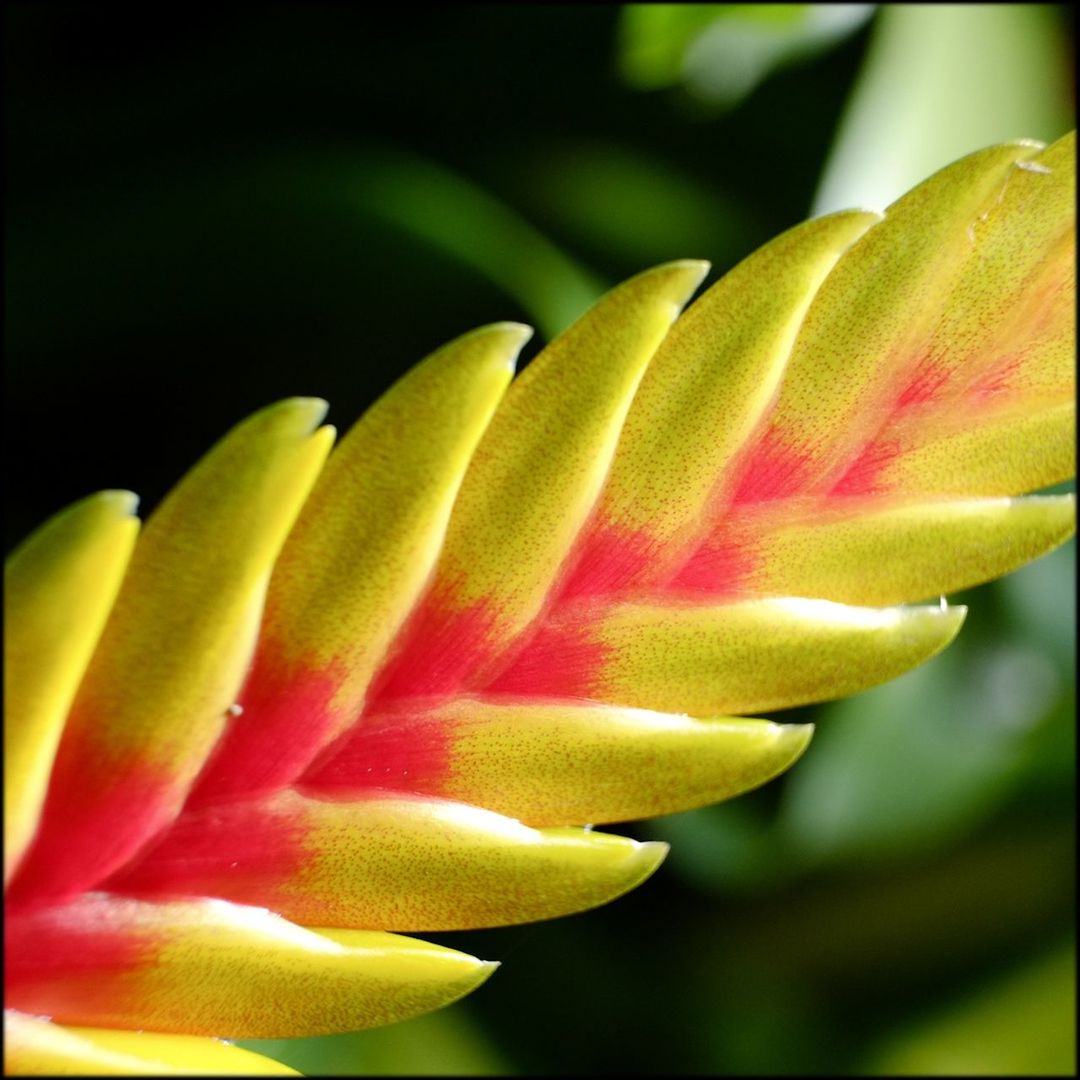
{"label": "near-black shadowed background above the flower, upper left", "polygon": [[[347,426],[445,340],[535,322],[384,219],[367,185],[397,156],[415,183],[432,162],[498,192],[599,285],[670,257],[721,270],[806,215],[860,56],[833,53],[813,94],[779,79],[719,139],[612,77],[615,6],[165,11],[9,9],[9,545],[103,484],[154,502],[276,397]],[[677,162],[737,213],[651,249],[578,235],[543,180],[579,144]]]}

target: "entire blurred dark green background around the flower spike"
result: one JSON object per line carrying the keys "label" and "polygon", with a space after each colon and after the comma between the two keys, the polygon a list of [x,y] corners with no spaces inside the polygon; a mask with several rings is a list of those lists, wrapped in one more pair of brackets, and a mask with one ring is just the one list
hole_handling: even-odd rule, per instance
{"label": "entire blurred dark green background around the flower spike", "polygon": [[[152,510],[278,397],[345,429],[474,326],[550,339],[650,265],[712,281],[812,213],[1075,123],[1064,5],[4,21],[9,549],[104,487]],[[460,1004],[249,1045],[324,1075],[1074,1074],[1074,592],[1070,543],[950,597],[959,642],[800,710],[788,775],[621,828],[673,850],[616,904],[429,935],[504,961]]]}

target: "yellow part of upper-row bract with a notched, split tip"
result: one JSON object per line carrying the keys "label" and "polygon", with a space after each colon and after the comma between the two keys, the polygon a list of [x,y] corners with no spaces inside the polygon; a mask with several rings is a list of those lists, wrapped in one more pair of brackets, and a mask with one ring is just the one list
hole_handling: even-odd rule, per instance
{"label": "yellow part of upper-row bract with a notched, split tip", "polygon": [[183,796],[205,760],[251,662],[274,559],[329,453],[334,429],[314,431],[325,413],[301,397],[256,413],[147,523],[72,720],[85,711],[116,768],[160,764]]}

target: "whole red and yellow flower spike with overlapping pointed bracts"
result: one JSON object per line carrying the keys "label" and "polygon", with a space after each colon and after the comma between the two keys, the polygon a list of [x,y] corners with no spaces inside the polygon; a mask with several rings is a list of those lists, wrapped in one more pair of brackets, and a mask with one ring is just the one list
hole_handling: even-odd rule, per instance
{"label": "whole red and yellow flower spike with overlapping pointed bracts", "polygon": [[[1074,138],[613,289],[511,383],[467,334],[329,454],[240,424],[136,539],[6,570],[8,1070],[287,1072],[221,1038],[391,1023],[495,964],[401,936],[546,919],[666,846],[592,824],[782,772],[944,648],[945,594],[1074,530]],[[926,602],[905,606],[912,602]]]}

